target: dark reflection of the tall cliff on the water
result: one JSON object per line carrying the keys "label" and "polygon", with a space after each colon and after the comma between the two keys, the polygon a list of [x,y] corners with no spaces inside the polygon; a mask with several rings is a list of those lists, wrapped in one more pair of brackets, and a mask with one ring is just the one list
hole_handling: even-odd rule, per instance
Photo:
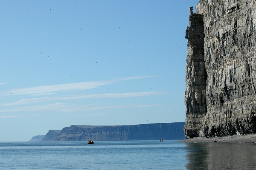
{"label": "dark reflection of the tall cliff on the water", "polygon": [[188,170],[252,170],[255,143],[187,143]]}

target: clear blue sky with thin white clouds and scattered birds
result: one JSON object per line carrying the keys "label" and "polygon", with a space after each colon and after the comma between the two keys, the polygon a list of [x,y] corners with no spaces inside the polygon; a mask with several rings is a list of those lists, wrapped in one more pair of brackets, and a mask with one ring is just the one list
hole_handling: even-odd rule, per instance
{"label": "clear blue sky with thin white clouds and scattered birds", "polygon": [[185,122],[196,4],[1,0],[0,141],[71,125]]}

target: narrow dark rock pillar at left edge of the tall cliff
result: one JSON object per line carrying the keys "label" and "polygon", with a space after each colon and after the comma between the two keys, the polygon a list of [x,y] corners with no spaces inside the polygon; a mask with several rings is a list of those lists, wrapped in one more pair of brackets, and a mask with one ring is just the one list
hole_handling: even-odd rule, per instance
{"label": "narrow dark rock pillar at left edge of the tall cliff", "polygon": [[185,135],[198,136],[201,124],[207,112],[206,79],[204,63],[204,20],[202,14],[189,16],[189,27],[186,30],[188,52],[186,59],[186,124]]}

